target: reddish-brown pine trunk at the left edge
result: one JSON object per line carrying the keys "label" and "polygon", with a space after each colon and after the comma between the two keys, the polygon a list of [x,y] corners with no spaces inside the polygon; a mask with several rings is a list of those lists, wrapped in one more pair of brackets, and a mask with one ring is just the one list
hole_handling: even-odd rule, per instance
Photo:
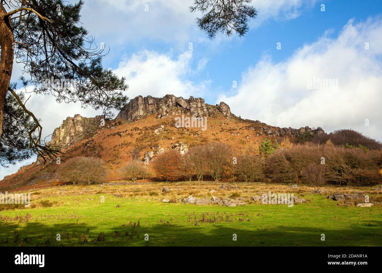
{"label": "reddish-brown pine trunk at the left edge", "polygon": [[3,134],[4,102],[12,75],[13,66],[13,33],[11,16],[4,19],[5,8],[0,4],[0,140]]}

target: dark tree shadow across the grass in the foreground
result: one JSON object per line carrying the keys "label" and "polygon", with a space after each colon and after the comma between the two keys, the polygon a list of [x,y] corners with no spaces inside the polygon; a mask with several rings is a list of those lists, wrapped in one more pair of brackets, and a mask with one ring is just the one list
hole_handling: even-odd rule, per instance
{"label": "dark tree shadow across the grass in the foreground", "polygon": [[[238,223],[234,223],[236,226]],[[252,230],[201,223],[200,226],[155,224],[153,226],[113,226],[104,230],[105,240],[97,241],[96,226],[86,224],[53,224],[27,222],[0,225],[2,246],[381,246],[382,222],[365,221],[354,229],[321,229],[315,227],[283,226]],[[57,241],[57,234],[61,240]],[[88,234],[88,242],[79,242]],[[148,241],[147,239],[148,234]],[[237,240],[233,240],[236,234]],[[325,234],[325,240],[321,240]]]}

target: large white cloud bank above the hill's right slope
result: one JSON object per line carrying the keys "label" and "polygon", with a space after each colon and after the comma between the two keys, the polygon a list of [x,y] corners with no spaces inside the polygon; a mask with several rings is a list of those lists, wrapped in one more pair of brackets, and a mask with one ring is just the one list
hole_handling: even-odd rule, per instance
{"label": "large white cloud bank above the hill's right slope", "polygon": [[[350,20],[337,38],[327,32],[285,62],[268,56],[243,73],[234,96],[221,95],[233,113],[282,127],[353,128],[382,140],[382,21]],[[365,49],[369,43],[369,50]],[[308,79],[338,79],[338,90],[307,89]],[[365,126],[365,119],[369,126]]]}

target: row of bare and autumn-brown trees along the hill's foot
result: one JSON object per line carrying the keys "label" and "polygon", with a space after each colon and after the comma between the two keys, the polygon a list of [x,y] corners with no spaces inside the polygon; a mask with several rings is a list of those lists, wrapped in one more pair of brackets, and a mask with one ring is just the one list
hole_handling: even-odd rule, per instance
{"label": "row of bare and autumn-brown trees along the hill's foot", "polygon": [[[277,144],[277,143],[276,143]],[[182,156],[172,149],[158,154],[149,165],[134,157],[120,170],[123,178],[135,182],[153,177],[177,181],[203,179],[220,181],[274,181],[372,185],[382,181],[382,150],[364,146],[335,146],[328,140],[324,145],[291,144],[285,138],[280,145],[264,139],[262,143],[237,150],[221,142],[192,147]],[[107,177],[101,159],[78,157],[68,160],[60,177],[74,184],[104,182]]]}

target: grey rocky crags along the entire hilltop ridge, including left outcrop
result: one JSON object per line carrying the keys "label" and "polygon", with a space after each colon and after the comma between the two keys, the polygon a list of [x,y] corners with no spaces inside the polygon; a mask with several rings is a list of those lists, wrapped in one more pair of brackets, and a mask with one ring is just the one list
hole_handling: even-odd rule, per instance
{"label": "grey rocky crags along the entire hilltop ridge, including left outcrop", "polygon": [[[220,104],[210,105],[204,102],[202,98],[189,99],[176,97],[174,95],[165,95],[163,98],[154,98],[152,96],[137,96],[131,99],[128,104],[118,113],[116,119],[125,120],[125,122],[134,122],[143,119],[149,115],[156,115],[157,119],[165,119],[172,115],[190,115],[192,117],[212,117],[217,113],[221,113],[226,119],[241,119],[231,113],[230,107],[225,102]],[[74,117],[67,117],[63,120],[60,127],[57,127],[53,134],[52,140],[48,144],[67,148],[74,143],[83,140],[87,136],[94,134],[97,129],[102,128],[101,119],[103,116],[92,118],[82,117],[79,114]],[[253,121],[246,119],[245,121],[261,125],[261,129],[256,132],[259,136],[298,136],[305,132],[311,134],[324,133],[322,128],[312,129],[308,126],[294,129],[291,127],[280,128],[267,125],[259,120]],[[255,130],[255,127],[250,127]]]}

